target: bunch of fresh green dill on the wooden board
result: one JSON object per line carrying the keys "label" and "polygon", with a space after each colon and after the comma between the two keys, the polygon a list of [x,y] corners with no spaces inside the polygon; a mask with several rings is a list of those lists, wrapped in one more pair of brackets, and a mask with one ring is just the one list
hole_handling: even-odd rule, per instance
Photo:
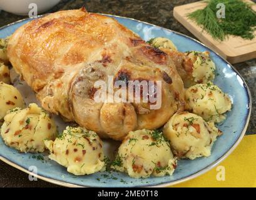
{"label": "bunch of fresh green dill on the wooden board", "polygon": [[[212,35],[213,39],[223,41],[228,35],[253,39],[256,29],[256,12],[250,4],[241,0],[208,0],[204,9],[188,14],[188,17],[203,30]],[[225,5],[225,18],[218,18],[217,4]]]}

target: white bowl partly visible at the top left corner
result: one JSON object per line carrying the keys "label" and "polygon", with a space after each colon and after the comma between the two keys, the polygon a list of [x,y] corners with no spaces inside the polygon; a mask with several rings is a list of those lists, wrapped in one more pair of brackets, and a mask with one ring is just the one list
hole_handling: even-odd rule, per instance
{"label": "white bowl partly visible at the top left corner", "polygon": [[32,8],[29,4],[34,3],[38,7],[38,14],[53,8],[60,0],[1,0],[0,9],[18,15],[28,15]]}

